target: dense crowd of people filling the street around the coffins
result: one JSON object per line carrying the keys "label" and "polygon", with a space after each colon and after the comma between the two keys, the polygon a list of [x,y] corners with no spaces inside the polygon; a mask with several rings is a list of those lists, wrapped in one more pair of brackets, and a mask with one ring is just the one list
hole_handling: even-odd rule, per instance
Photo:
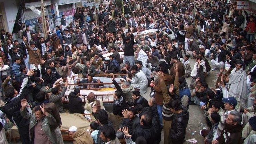
{"label": "dense crowd of people filling the street around the coffins", "polygon": [[[69,128],[74,144],[182,144],[189,105],[205,113],[205,144],[256,142],[256,19],[236,2],[104,1],[69,24],[52,17],[46,35],[41,19],[24,25],[22,42],[1,30],[1,144],[12,126],[22,144],[63,143],[60,113],[92,114],[88,130]],[[115,86],[112,110],[81,99],[106,88],[99,74]]]}

